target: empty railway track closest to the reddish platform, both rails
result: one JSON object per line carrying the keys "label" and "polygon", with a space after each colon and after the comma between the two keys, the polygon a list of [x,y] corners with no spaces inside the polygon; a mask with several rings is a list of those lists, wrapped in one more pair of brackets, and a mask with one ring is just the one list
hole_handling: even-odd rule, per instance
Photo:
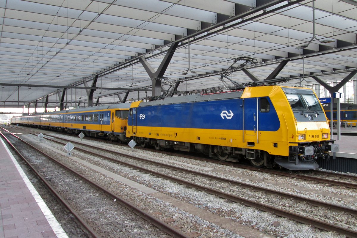
{"label": "empty railway track closest to the reddish platform, both rails", "polygon": [[[0,127],[2,128],[2,127]],[[5,128],[2,128],[3,130],[6,130]],[[7,130],[6,130],[7,131]],[[40,154],[42,154],[43,156],[47,157],[48,159],[50,159],[51,161],[54,161],[56,164],[60,165],[61,167],[65,168],[67,171],[70,171],[72,174],[76,175],[77,177],[79,177],[81,180],[85,181],[86,183],[90,184],[91,186],[95,187],[96,189],[100,190],[102,193],[104,193],[105,195],[109,196],[112,200],[119,202],[122,206],[126,207],[129,211],[134,212],[135,214],[137,214],[138,216],[140,216],[142,219],[149,221],[151,224],[153,224],[154,226],[160,228],[162,231],[166,232],[167,234],[173,236],[173,237],[178,237],[178,238],[189,238],[189,236],[187,236],[186,234],[182,233],[181,231],[178,231],[177,229],[171,227],[169,224],[161,221],[160,219],[157,219],[156,217],[152,216],[152,214],[145,212],[144,210],[140,209],[139,207],[133,205],[132,203],[120,198],[118,195],[116,195],[114,192],[106,189],[105,187],[99,185],[98,183],[88,179],[87,177],[81,175],[79,172],[71,169],[69,166],[67,166],[66,164],[64,164],[63,162],[60,162],[59,160],[57,160],[55,157],[52,157],[48,154],[46,154],[45,152],[39,150],[38,148],[36,148],[36,146],[31,145],[30,143],[27,143],[26,141],[22,140],[21,138],[19,138],[18,136],[10,133],[10,131],[7,131],[9,134],[11,134],[12,136],[14,136],[15,138],[17,138],[18,140],[20,140],[22,143],[26,144],[27,146],[30,146],[31,149],[36,150],[37,152],[39,152]],[[95,228],[91,227],[86,221],[85,219],[83,219],[78,212],[76,212],[76,209],[72,208],[70,203],[67,202],[64,198],[62,198],[62,196],[56,192],[55,188],[50,185],[49,182],[46,181],[46,179],[44,178],[44,176],[41,176],[41,173],[35,169],[34,166],[31,166],[31,164],[27,161],[27,159],[25,158],[25,156],[23,156],[19,150],[17,150],[15,148],[14,145],[11,144],[10,140],[6,138],[6,136],[1,133],[1,136],[3,138],[5,138],[6,141],[8,141],[8,143],[12,146],[12,148],[14,148],[14,150],[21,156],[22,159],[24,159],[27,164],[31,167],[32,170],[35,171],[35,173],[41,178],[41,180],[43,180],[46,185],[50,188],[50,190],[54,193],[54,195],[56,195],[56,197],[59,199],[59,201],[61,201],[61,203],[63,203],[67,209],[69,209],[69,211],[71,211],[71,213],[78,219],[78,221],[80,221],[80,223],[82,224],[82,226],[84,226],[87,231],[89,231],[93,237],[95,238],[100,238],[103,237],[103,234],[98,234],[95,231]]]}

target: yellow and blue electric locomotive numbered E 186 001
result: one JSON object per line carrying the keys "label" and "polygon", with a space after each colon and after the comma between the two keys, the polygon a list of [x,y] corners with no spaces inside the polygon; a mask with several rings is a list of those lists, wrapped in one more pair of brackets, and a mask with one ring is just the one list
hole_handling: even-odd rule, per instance
{"label": "yellow and blue electric locomotive numbered E 186 001", "polygon": [[318,168],[338,145],[308,88],[260,86],[131,104],[126,136],[141,146],[198,151],[256,167]]}

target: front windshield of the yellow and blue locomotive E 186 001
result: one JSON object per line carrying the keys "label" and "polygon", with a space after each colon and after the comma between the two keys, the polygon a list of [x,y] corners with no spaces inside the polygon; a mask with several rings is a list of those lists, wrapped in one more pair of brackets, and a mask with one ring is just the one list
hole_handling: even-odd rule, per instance
{"label": "front windshield of the yellow and blue locomotive E 186 001", "polygon": [[312,90],[300,89],[295,91],[285,92],[293,111],[322,111],[320,102],[315,94],[312,93]]}

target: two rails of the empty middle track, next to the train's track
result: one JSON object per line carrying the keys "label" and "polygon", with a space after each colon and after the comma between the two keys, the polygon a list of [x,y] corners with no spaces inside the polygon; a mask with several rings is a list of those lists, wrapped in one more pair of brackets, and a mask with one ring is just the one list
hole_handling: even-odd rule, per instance
{"label": "two rails of the empty middle track, next to the train's track", "polygon": [[[55,136],[51,135],[51,137],[55,137]],[[49,139],[49,138],[47,138],[47,139]],[[57,139],[64,140],[63,138],[57,138]],[[52,139],[50,139],[50,140],[52,140]],[[55,141],[55,140],[52,140],[52,141],[54,141],[55,143],[59,143],[59,141]],[[196,183],[193,183],[193,182],[190,182],[190,181],[187,181],[187,180],[184,180],[184,179],[180,179],[180,178],[177,178],[177,177],[175,178],[175,177],[167,175],[167,174],[162,174],[160,172],[156,172],[156,171],[153,171],[153,170],[146,169],[145,167],[135,166],[135,165],[132,165],[130,163],[125,163],[125,162],[122,162],[122,161],[118,161],[118,160],[116,160],[116,159],[114,159],[112,157],[103,156],[102,155],[103,151],[105,151],[106,154],[114,153],[112,150],[104,150],[102,148],[96,148],[95,146],[90,146],[90,145],[87,145],[87,144],[84,144],[84,143],[79,143],[79,142],[76,142],[76,141],[73,141],[73,143],[76,144],[76,149],[79,149],[82,152],[90,153],[90,154],[95,155],[95,156],[99,156],[99,157],[102,157],[102,158],[105,158],[105,159],[108,159],[108,160],[119,162],[122,165],[130,166],[130,167],[132,167],[134,169],[137,169],[137,170],[140,170],[140,171],[144,171],[144,172],[147,172],[147,173],[150,173],[150,174],[154,174],[156,176],[160,176],[160,177],[168,179],[168,180],[176,181],[176,182],[184,184],[186,186],[190,186],[190,187],[196,188],[196,189],[201,190],[201,191],[206,191],[206,192],[215,194],[217,196],[220,196],[220,197],[223,197],[223,198],[227,198],[227,199],[229,199],[231,201],[240,202],[240,203],[243,203],[243,204],[248,205],[248,206],[258,207],[259,209],[261,209],[263,211],[273,212],[273,213],[275,213],[275,214],[277,214],[279,216],[289,217],[289,218],[294,219],[294,220],[296,220],[298,222],[312,224],[315,227],[322,228],[322,229],[325,229],[325,230],[328,230],[328,231],[336,231],[336,232],[339,232],[341,234],[345,234],[348,237],[357,236],[356,231],[353,231],[352,229],[347,229],[347,228],[343,228],[341,226],[336,226],[336,225],[328,223],[328,222],[319,221],[318,219],[315,219],[315,218],[309,218],[305,214],[304,215],[296,214],[296,213],[293,213],[293,212],[290,212],[290,211],[286,211],[286,209],[276,208],[274,206],[267,205],[266,203],[264,204],[264,203],[257,202],[257,201],[247,200],[247,199],[245,199],[243,197],[235,196],[235,195],[232,195],[232,194],[227,193],[227,192],[222,192],[222,191],[217,190],[215,188],[197,185]],[[65,144],[66,143],[62,143],[62,145],[65,145]],[[78,145],[85,146],[85,148],[78,148]],[[99,152],[90,152],[90,150],[97,150]],[[322,207],[327,207],[329,209],[335,209],[335,210],[338,210],[338,211],[350,213],[353,216],[355,216],[357,214],[356,213],[356,209],[352,209],[352,208],[333,205],[333,204],[326,203],[326,202],[321,202],[321,201],[318,201],[318,200],[307,199],[307,198],[304,198],[304,197],[301,197],[301,196],[291,195],[289,193],[284,193],[284,192],[278,192],[278,191],[270,190],[270,189],[263,188],[263,187],[252,186],[250,184],[237,182],[237,181],[234,181],[234,180],[223,179],[222,177],[212,176],[212,175],[208,175],[206,173],[201,173],[201,172],[197,172],[197,171],[193,171],[193,170],[183,169],[183,168],[177,167],[177,166],[170,166],[170,165],[167,165],[165,163],[160,163],[160,162],[157,162],[157,161],[154,162],[154,161],[143,159],[143,158],[140,158],[140,157],[137,157],[137,156],[131,156],[131,155],[122,154],[122,153],[118,153],[118,152],[115,152],[114,154],[116,156],[129,157],[129,158],[134,159],[136,161],[140,160],[140,161],[149,162],[151,164],[156,164],[158,166],[166,167],[166,168],[168,168],[170,170],[177,170],[177,171],[181,171],[181,172],[185,172],[185,173],[195,174],[195,176],[197,176],[197,175],[205,176],[210,180],[224,181],[224,182],[230,183],[230,184],[235,185],[235,186],[254,188],[255,190],[258,190],[258,191],[263,191],[263,192],[271,193],[271,194],[278,194],[279,196],[282,196],[282,197],[288,197],[288,198],[291,198],[291,199],[294,199],[294,200],[297,200],[297,201],[304,201],[304,202],[310,203],[313,206],[322,206]],[[113,157],[115,157],[115,156],[113,156]]]}

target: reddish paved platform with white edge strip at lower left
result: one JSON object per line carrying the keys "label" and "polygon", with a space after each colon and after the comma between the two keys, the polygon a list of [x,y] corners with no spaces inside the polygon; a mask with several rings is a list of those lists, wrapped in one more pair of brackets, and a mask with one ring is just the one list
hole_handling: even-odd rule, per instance
{"label": "reddish paved platform with white edge strip at lower left", "polygon": [[68,238],[0,138],[0,238]]}

